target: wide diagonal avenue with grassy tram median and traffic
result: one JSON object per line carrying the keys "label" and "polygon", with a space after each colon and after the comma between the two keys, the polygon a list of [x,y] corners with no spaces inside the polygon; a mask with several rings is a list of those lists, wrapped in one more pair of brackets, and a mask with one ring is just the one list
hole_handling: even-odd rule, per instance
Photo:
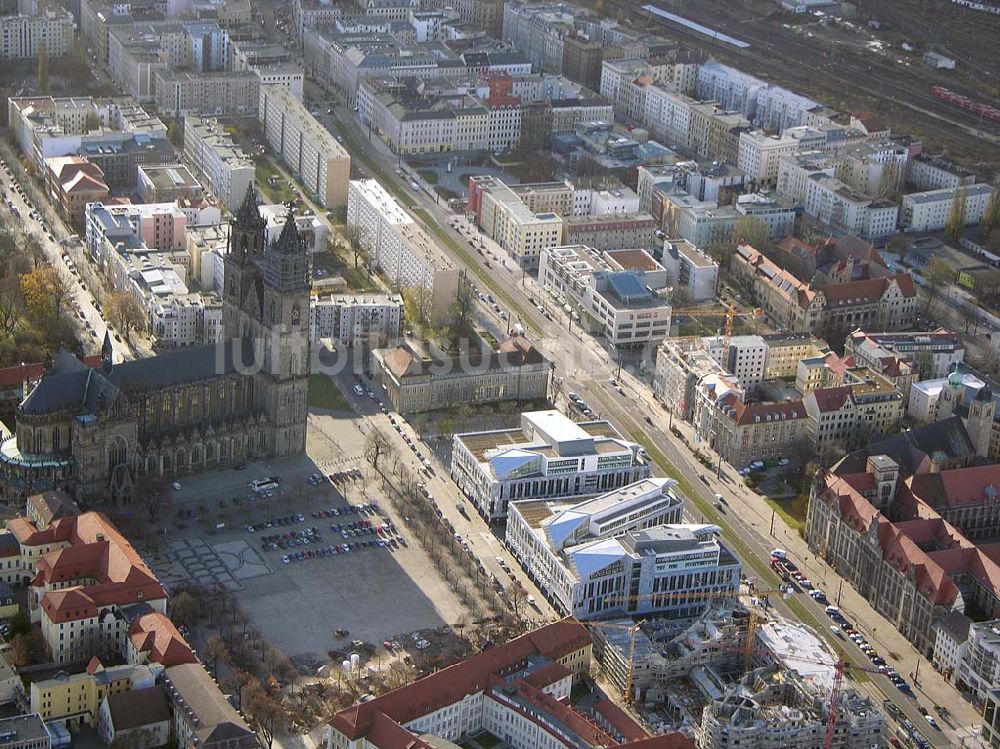
{"label": "wide diagonal avenue with grassy tram median and traffic", "polygon": [[[360,145],[360,148],[355,149],[353,153],[356,160],[360,160],[369,168],[377,167],[376,173],[381,171],[390,179],[394,179],[397,185],[408,191],[407,194],[411,196],[413,202],[428,215],[433,216],[438,226],[456,243],[470,246],[471,231],[464,221],[455,221],[456,217],[440,206],[426,190],[410,189],[411,175],[395,174],[398,158],[389,153],[384,143],[377,138],[369,140],[366,129],[360,126],[353,113],[344,107],[336,107],[335,115],[325,118],[328,126],[332,125],[333,120],[337,121],[339,128],[348,127],[351,131],[350,140]],[[459,229],[452,228],[452,223],[459,226]],[[780,517],[775,517],[772,535],[771,510],[763,499],[747,490],[730,466],[724,466],[721,478],[717,479],[713,471],[698,463],[690,450],[669,433],[667,424],[664,423],[666,414],[654,400],[649,387],[624,368],[619,377],[625,386],[626,395],[619,394],[608,382],[608,378],[619,370],[617,362],[608,351],[596,339],[581,333],[578,326],[553,300],[543,298],[547,295],[538,288],[534,279],[530,276],[521,278],[520,272],[514,270],[513,262],[509,258],[504,258],[502,251],[495,244],[485,238],[477,237],[475,243],[480,242],[493,253],[494,257],[500,253],[501,267],[505,265],[507,273],[511,274],[510,280],[503,283],[503,287],[518,306],[517,310],[509,310],[513,320],[542,331],[542,335],[533,337],[533,341],[555,362],[557,389],[563,393],[571,390],[577,392],[588,401],[599,417],[609,419],[625,437],[637,438],[644,435],[649,443],[655,445],[669,466],[672,466],[692,489],[689,495],[689,518],[692,520],[704,518],[708,522],[718,523],[724,530],[724,540],[737,540],[737,553],[746,557],[749,552],[753,557],[744,558],[748,576],[756,577],[758,583],[764,587],[774,587],[777,582],[776,577],[768,569],[766,560],[770,550],[780,544],[788,548],[796,560],[801,559],[806,563],[806,569],[810,570],[813,579],[820,580],[829,594],[830,588],[838,584],[839,578],[832,570],[822,569],[825,567],[822,562],[811,559],[805,543],[798,534],[790,530]],[[459,262],[464,262],[464,258],[455,253],[449,254],[455,256]],[[478,270],[481,273],[491,274],[493,278],[499,276],[501,281],[504,279],[504,276],[498,274],[495,269],[490,270],[486,267],[488,255],[475,252],[469,254],[479,263]],[[544,314],[537,309],[539,302],[545,304]],[[499,320],[491,309],[485,305],[483,307],[487,318],[492,320],[497,328],[500,328],[501,324],[506,324]],[[628,408],[623,407],[625,404],[628,404]],[[646,417],[651,423],[646,421]],[[690,433],[688,425],[677,423],[675,426],[682,431],[687,429],[689,443],[694,444],[693,434]],[[666,468],[668,466],[661,466],[661,470]],[[703,474],[706,475],[706,482],[699,479]],[[716,491],[730,498],[729,509],[723,515],[712,509]],[[853,643],[833,638],[821,605],[804,595],[797,596],[797,599],[799,600],[796,602],[775,600],[773,606],[782,615],[802,619],[814,627],[821,637],[834,643],[836,649],[844,651],[850,662],[870,668],[868,659]],[[950,716],[939,720],[944,732],[927,726],[922,714],[917,710],[915,701],[905,697],[885,677],[878,674],[859,674],[858,680],[862,688],[869,691],[878,702],[887,698],[896,704],[915,726],[921,727],[928,741],[934,746],[960,744],[963,738],[969,737],[973,731],[972,727],[979,722],[979,717],[972,706],[961,698],[940,674],[933,671],[926,659],[920,658],[915,653],[909,643],[895,631],[892,624],[882,620],[849,586],[844,587],[842,599],[845,612],[852,616],[852,621],[858,623],[857,626],[866,637],[879,644],[880,649],[885,651],[885,657],[888,658],[890,652],[899,655],[898,659],[890,659],[890,662],[900,673],[909,678],[908,675],[915,670],[917,661],[920,661],[920,683],[914,684],[914,687],[918,698],[922,702],[930,703],[928,707],[934,705],[950,707]],[[790,603],[792,605],[789,605]]]}

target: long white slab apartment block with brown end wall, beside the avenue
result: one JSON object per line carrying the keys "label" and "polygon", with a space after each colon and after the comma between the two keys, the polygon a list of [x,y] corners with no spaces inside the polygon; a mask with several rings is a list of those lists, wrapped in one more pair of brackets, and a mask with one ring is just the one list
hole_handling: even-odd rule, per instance
{"label": "long white slab apartment block with brown end wall, beside the avenue", "polygon": [[376,180],[351,180],[347,226],[393,287],[424,287],[430,292],[428,314],[437,321],[447,319],[458,293],[458,269]]}

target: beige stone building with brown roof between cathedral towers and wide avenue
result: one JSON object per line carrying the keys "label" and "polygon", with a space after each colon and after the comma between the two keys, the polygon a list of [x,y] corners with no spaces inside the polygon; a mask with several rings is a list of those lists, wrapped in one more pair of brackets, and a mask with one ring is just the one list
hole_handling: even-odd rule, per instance
{"label": "beige stone building with brown roof between cathedral towers and wide avenue", "polygon": [[453,357],[421,356],[407,347],[372,353],[375,380],[397,413],[533,401],[548,397],[552,362],[523,336],[501,343],[496,351]]}

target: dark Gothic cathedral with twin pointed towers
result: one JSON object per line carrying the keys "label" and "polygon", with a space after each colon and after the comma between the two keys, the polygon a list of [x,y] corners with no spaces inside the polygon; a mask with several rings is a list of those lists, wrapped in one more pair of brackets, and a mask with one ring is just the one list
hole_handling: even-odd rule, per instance
{"label": "dark Gothic cathedral with twin pointed towers", "polygon": [[256,191],[233,218],[223,341],[100,368],[55,358],[0,447],[8,498],[63,489],[127,502],[137,483],[305,450],[310,258],[285,222],[265,241]]}

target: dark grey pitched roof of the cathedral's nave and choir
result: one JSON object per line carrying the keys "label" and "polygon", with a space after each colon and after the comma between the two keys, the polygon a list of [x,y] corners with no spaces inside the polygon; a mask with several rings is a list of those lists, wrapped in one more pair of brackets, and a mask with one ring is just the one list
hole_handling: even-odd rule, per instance
{"label": "dark grey pitched roof of the cathedral's nave and choir", "polygon": [[27,414],[44,414],[77,407],[96,413],[122,389],[156,390],[185,382],[207,380],[252,368],[256,361],[250,338],[179,349],[147,359],[116,364],[109,374],[96,369],[46,374],[21,403]]}

